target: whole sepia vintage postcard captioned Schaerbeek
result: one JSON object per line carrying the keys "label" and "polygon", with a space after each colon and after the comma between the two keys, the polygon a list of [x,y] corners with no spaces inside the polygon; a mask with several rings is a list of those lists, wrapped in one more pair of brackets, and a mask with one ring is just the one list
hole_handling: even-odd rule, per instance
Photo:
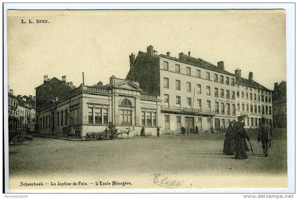
{"label": "whole sepia vintage postcard captioned Schaerbeek", "polygon": [[8,10],[10,190],[288,187],[285,10]]}

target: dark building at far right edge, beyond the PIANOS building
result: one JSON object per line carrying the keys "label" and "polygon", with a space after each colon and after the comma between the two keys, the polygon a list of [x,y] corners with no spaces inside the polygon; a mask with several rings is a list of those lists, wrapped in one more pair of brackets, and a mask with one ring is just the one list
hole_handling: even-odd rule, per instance
{"label": "dark building at far right edge, beyond the PIANOS building", "polygon": [[287,128],[287,82],[274,83],[272,92],[273,127]]}

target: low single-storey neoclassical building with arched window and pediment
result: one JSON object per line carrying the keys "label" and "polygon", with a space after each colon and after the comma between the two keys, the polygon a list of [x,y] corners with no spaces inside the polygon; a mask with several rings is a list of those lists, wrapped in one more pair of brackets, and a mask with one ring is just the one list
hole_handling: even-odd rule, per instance
{"label": "low single-storey neoclassical building with arched window and pediment", "polygon": [[104,131],[111,122],[119,131],[134,129],[129,136],[139,135],[142,126],[156,135],[160,103],[159,96],[144,92],[138,82],[112,76],[105,86],[81,84],[64,98],[50,99],[38,112],[39,132],[67,135],[79,128],[85,136]]}

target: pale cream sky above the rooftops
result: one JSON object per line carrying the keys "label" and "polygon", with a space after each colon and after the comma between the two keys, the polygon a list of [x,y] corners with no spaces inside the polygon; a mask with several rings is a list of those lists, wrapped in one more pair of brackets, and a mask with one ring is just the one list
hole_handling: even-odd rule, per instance
{"label": "pale cream sky above the rooftops", "polygon": [[[21,19],[27,21],[21,24]],[[29,24],[29,19],[34,23]],[[36,23],[45,19],[49,23]],[[283,10],[11,11],[8,12],[8,85],[33,95],[44,75],[79,86],[125,78],[129,55],[153,45],[178,58],[191,52],[268,89],[286,81]]]}

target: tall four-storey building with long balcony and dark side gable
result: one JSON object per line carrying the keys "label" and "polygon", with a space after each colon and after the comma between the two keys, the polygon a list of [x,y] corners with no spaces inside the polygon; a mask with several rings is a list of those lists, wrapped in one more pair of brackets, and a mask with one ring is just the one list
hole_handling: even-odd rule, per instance
{"label": "tall four-storey building with long balcony and dark side gable", "polygon": [[147,53],[130,55],[130,71],[126,79],[139,81],[145,91],[163,99],[159,125],[163,133],[176,134],[184,125],[194,132],[220,131],[236,121],[235,74],[224,70],[224,62],[215,66],[201,58],[184,53],[179,59],[157,55],[153,46]]}

